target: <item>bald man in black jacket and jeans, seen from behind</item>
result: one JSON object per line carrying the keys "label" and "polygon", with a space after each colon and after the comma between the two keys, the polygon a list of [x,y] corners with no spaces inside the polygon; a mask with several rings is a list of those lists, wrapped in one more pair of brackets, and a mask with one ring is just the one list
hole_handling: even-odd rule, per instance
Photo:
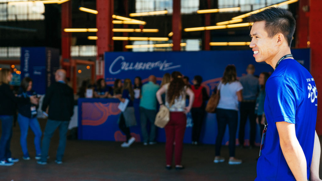
{"label": "bald man in black jacket and jeans, seen from behind", "polygon": [[47,164],[49,144],[55,130],[59,129],[59,145],[55,162],[62,164],[62,157],[66,147],[66,134],[69,121],[73,115],[74,94],[73,89],[65,83],[66,71],[58,69],[55,73],[56,82],[46,91],[43,99],[42,110],[48,109],[48,120],[43,133],[41,159],[37,161],[40,165]]}

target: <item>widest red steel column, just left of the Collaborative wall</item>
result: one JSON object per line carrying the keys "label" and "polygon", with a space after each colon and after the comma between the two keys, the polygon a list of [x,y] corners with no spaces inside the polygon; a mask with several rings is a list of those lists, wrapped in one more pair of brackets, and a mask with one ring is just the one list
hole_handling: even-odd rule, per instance
{"label": "widest red steel column, just left of the Collaborative wall", "polygon": [[[113,24],[112,24],[112,15],[114,13],[114,0],[96,0],[96,10],[99,12],[96,15],[96,27],[98,32],[96,36],[97,46],[97,60],[100,58],[103,61],[107,61],[104,58],[104,52],[113,52],[114,50],[114,41],[113,37]],[[103,72],[104,72],[103,65]],[[103,76],[97,76],[96,78],[102,78]]]}

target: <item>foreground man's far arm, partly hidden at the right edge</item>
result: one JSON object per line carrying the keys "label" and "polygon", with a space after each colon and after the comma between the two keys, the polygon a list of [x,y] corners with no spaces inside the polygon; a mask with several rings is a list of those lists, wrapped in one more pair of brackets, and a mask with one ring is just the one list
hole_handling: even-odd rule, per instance
{"label": "foreground man's far arm, partly hidden at the right edge", "polygon": [[310,167],[310,181],[321,181],[319,176],[320,154],[320,141],[319,137],[317,136],[317,132],[315,131],[313,155]]}

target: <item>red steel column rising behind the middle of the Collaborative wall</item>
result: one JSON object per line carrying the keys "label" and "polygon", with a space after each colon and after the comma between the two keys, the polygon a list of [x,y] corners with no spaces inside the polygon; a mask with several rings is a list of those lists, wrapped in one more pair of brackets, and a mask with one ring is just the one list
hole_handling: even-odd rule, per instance
{"label": "red steel column rising behind the middle of the Collaborative wall", "polygon": [[172,14],[172,41],[173,41],[173,51],[180,51],[181,43],[181,13],[180,13],[180,0],[173,0],[173,14]]}

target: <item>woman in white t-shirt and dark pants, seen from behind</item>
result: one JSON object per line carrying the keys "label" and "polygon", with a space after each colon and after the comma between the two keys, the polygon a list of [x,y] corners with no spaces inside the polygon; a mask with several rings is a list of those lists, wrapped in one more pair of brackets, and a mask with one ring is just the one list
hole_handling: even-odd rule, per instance
{"label": "woman in white t-shirt and dark pants, seen from behind", "polygon": [[237,80],[236,67],[234,65],[227,65],[217,89],[217,93],[220,93],[220,99],[216,109],[218,135],[216,138],[216,156],[213,160],[214,163],[225,161],[225,158],[220,157],[220,148],[227,124],[229,127],[228,164],[236,165],[242,163],[242,160],[235,158],[238,102],[242,101],[242,89],[242,84]]}

